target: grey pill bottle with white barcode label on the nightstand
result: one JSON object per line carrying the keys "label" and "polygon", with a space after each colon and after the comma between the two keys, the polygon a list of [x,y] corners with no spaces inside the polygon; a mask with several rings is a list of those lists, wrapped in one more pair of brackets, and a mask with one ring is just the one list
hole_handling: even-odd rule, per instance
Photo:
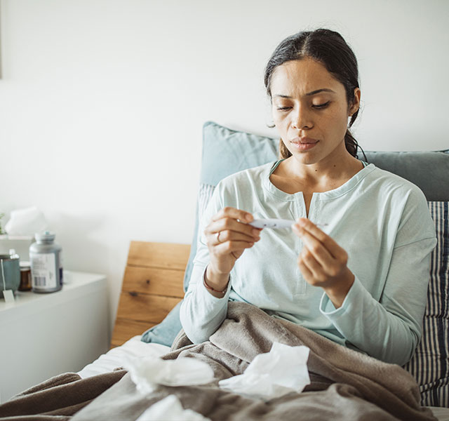
{"label": "grey pill bottle with white barcode label on the nightstand", "polygon": [[53,232],[39,232],[34,238],[36,242],[29,246],[32,290],[54,293],[62,288],[62,248]]}

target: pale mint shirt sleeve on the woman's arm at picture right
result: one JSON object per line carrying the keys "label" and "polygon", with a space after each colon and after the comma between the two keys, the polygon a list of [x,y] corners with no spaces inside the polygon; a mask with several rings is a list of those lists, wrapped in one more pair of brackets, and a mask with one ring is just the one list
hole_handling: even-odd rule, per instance
{"label": "pale mint shirt sleeve on the woman's arm at picture right", "polygon": [[323,294],[321,313],[350,344],[377,359],[402,366],[413,356],[421,338],[435,246],[434,225],[424,198],[404,210],[380,301],[356,276],[338,309]]}

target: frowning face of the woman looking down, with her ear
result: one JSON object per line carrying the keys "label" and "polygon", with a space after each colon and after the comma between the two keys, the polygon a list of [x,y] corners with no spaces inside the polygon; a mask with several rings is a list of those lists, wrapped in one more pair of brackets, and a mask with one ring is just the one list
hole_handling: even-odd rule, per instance
{"label": "frowning face of the woman looking down, with her ear", "polygon": [[274,123],[296,159],[330,163],[346,153],[344,134],[348,117],[360,104],[360,89],[349,107],[342,83],[311,58],[276,67],[270,88]]}

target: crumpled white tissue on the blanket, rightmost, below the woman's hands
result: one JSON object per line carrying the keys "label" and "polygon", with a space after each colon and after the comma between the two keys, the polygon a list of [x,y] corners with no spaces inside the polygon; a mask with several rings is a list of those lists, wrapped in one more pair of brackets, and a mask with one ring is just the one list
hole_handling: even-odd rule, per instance
{"label": "crumpled white tissue on the blanket, rightmost, below the woman's hands", "polygon": [[259,354],[241,375],[220,380],[221,389],[262,399],[302,392],[309,385],[308,347],[290,347],[274,342],[270,352]]}

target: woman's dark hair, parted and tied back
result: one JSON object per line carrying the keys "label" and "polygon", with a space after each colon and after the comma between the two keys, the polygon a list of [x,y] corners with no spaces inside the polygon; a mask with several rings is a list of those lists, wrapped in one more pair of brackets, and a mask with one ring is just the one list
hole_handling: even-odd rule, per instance
{"label": "woman's dark hair, parted and tied back", "polygon": [[[343,37],[330,29],[298,32],[288,36],[276,47],[264,73],[265,88],[270,99],[272,98],[270,83],[274,69],[285,62],[301,60],[305,57],[321,62],[328,72],[344,86],[348,104],[351,105],[354,102],[354,89],[359,87],[357,59]],[[357,115],[358,110],[352,114],[349,127],[356,121]],[[360,146],[351,135],[349,128],[344,135],[344,145],[352,156],[357,157],[357,149]],[[291,155],[282,140],[279,143],[279,152],[283,158]],[[363,155],[365,155],[364,152]]]}

